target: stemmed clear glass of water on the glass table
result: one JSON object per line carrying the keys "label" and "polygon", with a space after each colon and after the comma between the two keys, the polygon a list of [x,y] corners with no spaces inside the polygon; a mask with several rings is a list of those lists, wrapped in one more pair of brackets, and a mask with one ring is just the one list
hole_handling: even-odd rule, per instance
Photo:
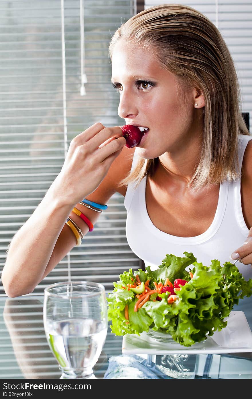
{"label": "stemmed clear glass of water on the glass table", "polygon": [[43,319],[61,378],[96,378],[93,367],[107,335],[107,300],[102,284],[60,282],[45,288]]}

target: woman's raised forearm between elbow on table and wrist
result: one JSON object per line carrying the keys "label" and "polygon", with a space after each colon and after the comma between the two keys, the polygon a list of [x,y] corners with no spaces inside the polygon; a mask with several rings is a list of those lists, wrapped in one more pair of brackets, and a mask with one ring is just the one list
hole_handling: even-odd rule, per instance
{"label": "woman's raised forearm between elbow on table and wrist", "polygon": [[41,281],[71,209],[72,204],[59,201],[51,188],[13,237],[2,272],[8,296],[31,292]]}

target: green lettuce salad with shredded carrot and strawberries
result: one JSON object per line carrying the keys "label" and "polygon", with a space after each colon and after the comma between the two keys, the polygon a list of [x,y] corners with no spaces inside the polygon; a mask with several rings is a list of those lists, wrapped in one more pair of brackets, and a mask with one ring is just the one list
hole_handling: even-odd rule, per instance
{"label": "green lettuce salad with shredded carrot and strawberries", "polygon": [[230,262],[221,267],[215,259],[207,267],[192,253],[184,255],[166,255],[154,271],[129,269],[113,283],[107,301],[115,335],[159,330],[191,346],[227,326],[234,304],[252,294],[252,279],[244,280]]}

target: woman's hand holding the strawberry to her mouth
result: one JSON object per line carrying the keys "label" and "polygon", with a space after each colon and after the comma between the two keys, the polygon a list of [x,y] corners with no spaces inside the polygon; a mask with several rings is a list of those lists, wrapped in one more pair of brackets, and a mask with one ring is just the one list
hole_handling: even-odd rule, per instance
{"label": "woman's hand holding the strawberry to her mouth", "polygon": [[70,142],[50,192],[67,204],[82,201],[100,185],[125,144],[119,126],[104,127],[100,122],[90,126]]}

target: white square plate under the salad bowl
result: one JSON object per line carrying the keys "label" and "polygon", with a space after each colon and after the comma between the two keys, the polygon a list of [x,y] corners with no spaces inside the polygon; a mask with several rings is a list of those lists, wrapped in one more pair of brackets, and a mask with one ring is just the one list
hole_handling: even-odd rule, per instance
{"label": "white square plate under the salad bowl", "polygon": [[227,327],[215,331],[205,341],[192,346],[182,346],[177,342],[158,342],[143,332],[140,336],[123,336],[123,354],[220,354],[252,352],[252,332],[246,316],[241,311],[230,312]]}

